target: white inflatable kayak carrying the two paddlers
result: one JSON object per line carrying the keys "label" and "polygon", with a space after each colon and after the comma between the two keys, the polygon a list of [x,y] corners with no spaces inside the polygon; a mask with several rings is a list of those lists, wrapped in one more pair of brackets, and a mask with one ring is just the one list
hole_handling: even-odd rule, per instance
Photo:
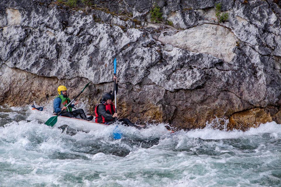
{"label": "white inflatable kayak carrying the two paddlers", "polygon": [[[38,108],[38,106],[35,106]],[[48,117],[43,111],[40,111],[32,106],[29,106],[29,110],[32,114],[35,114],[35,118],[42,121],[47,121],[50,117]],[[56,116],[56,115],[52,115]],[[52,117],[51,116],[51,117]],[[89,117],[89,116],[88,116]],[[92,121],[82,120],[78,118],[71,118],[71,117],[64,117],[64,116],[58,116],[58,121],[54,125],[54,127],[60,127],[61,125],[68,125],[68,127],[72,129],[76,129],[77,131],[85,131],[90,132],[91,130],[98,130],[105,127],[108,127],[109,125],[103,124],[103,123],[96,123],[95,117]],[[136,125],[138,127],[144,127],[144,125]]]}

